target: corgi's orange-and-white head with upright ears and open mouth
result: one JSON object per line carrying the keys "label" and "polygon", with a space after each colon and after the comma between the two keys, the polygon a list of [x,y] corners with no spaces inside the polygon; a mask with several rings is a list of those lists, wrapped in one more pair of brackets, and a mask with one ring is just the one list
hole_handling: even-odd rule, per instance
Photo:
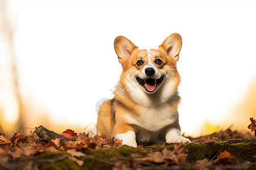
{"label": "corgi's orange-and-white head with upright ears and open mouth", "polygon": [[173,33],[157,50],[139,50],[126,37],[118,36],[115,39],[115,52],[123,67],[121,83],[130,90],[133,98],[139,100],[144,95],[155,96],[154,94],[159,93],[166,98],[177,89],[180,76],[176,62],[181,42],[180,35]]}

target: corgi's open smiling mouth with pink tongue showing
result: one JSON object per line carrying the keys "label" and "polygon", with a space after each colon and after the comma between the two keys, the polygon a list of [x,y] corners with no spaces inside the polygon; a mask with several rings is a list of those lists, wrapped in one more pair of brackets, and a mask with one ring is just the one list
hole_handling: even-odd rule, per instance
{"label": "corgi's open smiling mouth with pink tongue showing", "polygon": [[154,92],[156,88],[163,82],[164,76],[160,76],[159,79],[141,79],[137,76],[136,80],[138,83],[145,88],[147,92]]}

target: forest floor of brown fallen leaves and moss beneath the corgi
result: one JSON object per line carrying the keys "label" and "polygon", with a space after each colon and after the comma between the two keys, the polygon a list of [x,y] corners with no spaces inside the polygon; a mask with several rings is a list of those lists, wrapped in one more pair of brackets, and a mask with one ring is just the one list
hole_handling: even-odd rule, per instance
{"label": "forest floor of brown fallen leaves and moss beneath the corgi", "polygon": [[137,148],[113,138],[57,134],[43,126],[23,136],[0,133],[0,169],[256,169],[254,135],[230,129],[191,143],[163,143]]}

